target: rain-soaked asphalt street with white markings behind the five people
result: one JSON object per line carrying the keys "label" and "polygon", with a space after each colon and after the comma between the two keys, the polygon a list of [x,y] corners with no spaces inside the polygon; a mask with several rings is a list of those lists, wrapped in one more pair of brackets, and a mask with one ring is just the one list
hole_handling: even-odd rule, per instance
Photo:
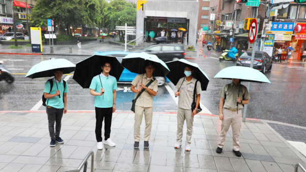
{"label": "rain-soaked asphalt street with white markings behind the five people", "polygon": [[[201,45],[197,44],[197,47]],[[207,48],[204,54],[208,56]],[[187,59],[197,63],[205,71],[210,79],[207,91],[201,94],[200,102],[208,109],[206,113],[219,114],[219,91],[224,84],[230,80],[214,79],[213,77],[222,69],[234,66],[233,62],[219,62],[218,52],[212,50],[208,59],[203,56],[193,56]],[[35,64],[52,58],[69,60],[73,64],[87,58],[87,56],[50,56],[50,55],[2,55],[1,60],[8,67],[15,77],[13,84],[0,82],[0,109],[2,110],[44,110],[44,106],[38,104],[43,94],[44,83],[49,78],[30,79],[24,78],[25,74]],[[273,63],[271,72],[265,75],[271,81],[268,83],[251,83],[249,90],[250,101],[247,111],[247,118],[263,119],[289,123],[303,126],[304,121],[304,97],[305,88],[304,74],[306,63]],[[67,80],[69,93],[68,110],[94,110],[94,97],[89,94],[89,89],[82,87],[72,79],[72,75],[64,75]],[[246,82],[242,82],[247,85]],[[118,83],[117,110],[129,111],[134,99],[134,93],[130,91],[131,84]],[[171,88],[171,89],[169,89]],[[172,90],[172,92],[171,92]],[[154,98],[155,112],[171,112],[177,110],[177,104],[172,98],[176,89],[169,82],[159,87],[159,92]],[[203,107],[202,107],[203,108]]]}

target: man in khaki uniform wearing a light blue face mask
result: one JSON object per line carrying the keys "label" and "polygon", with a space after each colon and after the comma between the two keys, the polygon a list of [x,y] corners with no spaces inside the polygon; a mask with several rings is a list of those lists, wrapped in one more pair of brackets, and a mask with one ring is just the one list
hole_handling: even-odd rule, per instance
{"label": "man in khaki uniform wearing a light blue face mask", "polygon": [[192,77],[192,73],[194,72],[192,66],[186,65],[184,69],[184,73],[186,77],[183,77],[177,82],[175,92],[175,96],[179,97],[179,103],[177,106],[177,132],[176,132],[176,144],[174,148],[180,148],[182,145],[182,137],[183,137],[183,125],[186,119],[187,124],[187,134],[185,141],[185,151],[191,151],[191,136],[192,136],[192,127],[193,127],[193,116],[196,114],[198,105],[200,103],[201,96],[201,83],[198,81],[196,85],[196,108],[191,111],[191,104],[193,102],[193,92],[194,85],[196,79]]}

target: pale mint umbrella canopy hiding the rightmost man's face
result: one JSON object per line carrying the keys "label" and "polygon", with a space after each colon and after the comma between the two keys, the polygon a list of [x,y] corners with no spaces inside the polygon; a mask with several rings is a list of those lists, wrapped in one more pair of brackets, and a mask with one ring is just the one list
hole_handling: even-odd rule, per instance
{"label": "pale mint umbrella canopy hiding the rightmost man's face", "polygon": [[232,66],[222,69],[214,78],[221,79],[240,79],[245,82],[271,83],[269,79],[260,71],[243,66]]}

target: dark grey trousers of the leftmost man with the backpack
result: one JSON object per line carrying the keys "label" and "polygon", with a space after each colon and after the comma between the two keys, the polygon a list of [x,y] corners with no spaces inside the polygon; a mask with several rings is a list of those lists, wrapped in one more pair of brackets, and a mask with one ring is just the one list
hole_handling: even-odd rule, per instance
{"label": "dark grey trousers of the leftmost man with the backpack", "polygon": [[[55,139],[56,137],[60,136],[64,108],[57,109],[51,106],[46,106],[46,112],[48,115],[48,126],[49,126],[50,138]],[[55,125],[55,131],[54,131],[55,122],[56,122],[56,125]]]}

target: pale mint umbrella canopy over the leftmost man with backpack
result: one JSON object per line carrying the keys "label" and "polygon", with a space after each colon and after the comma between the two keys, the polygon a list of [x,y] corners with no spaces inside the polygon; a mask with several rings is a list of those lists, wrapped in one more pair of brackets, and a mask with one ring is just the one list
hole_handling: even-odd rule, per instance
{"label": "pale mint umbrella canopy over the leftmost man with backpack", "polygon": [[64,69],[63,74],[73,72],[75,65],[66,59],[51,59],[42,61],[39,64],[34,65],[25,77],[28,78],[42,78],[54,76],[55,69]]}

